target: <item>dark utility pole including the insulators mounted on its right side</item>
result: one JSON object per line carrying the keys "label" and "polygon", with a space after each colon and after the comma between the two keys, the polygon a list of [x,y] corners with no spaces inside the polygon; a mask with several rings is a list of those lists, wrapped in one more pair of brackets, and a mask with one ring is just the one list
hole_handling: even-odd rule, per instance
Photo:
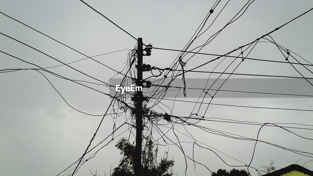
{"label": "dark utility pole including the insulators mounted on its right side", "polygon": [[[135,80],[136,86],[144,87],[143,83],[146,83],[148,89],[151,87],[151,81],[143,80],[142,72],[150,71],[151,65],[142,64],[142,56],[150,56],[152,45],[146,45],[145,49],[142,49],[142,38],[138,38],[138,48],[137,48],[137,79]],[[143,51],[146,51],[146,54],[143,54]],[[134,172],[135,176],[141,176],[141,145],[142,145],[142,116],[145,114],[142,108],[143,101],[147,100],[147,97],[143,97],[142,90],[136,91],[134,97],[131,97],[131,100],[135,102],[135,111],[136,114],[136,147],[135,147],[135,159],[134,159]]]}

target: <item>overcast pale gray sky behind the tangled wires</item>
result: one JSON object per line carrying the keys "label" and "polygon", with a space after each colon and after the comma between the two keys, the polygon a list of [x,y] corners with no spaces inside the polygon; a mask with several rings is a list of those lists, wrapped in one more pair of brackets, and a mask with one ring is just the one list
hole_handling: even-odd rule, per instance
{"label": "overcast pale gray sky behind the tangled wires", "polygon": [[[191,48],[203,44],[211,35],[223,28],[247,2],[230,0],[209,30],[195,40]],[[86,3],[121,26],[121,28],[125,29],[131,35],[136,38],[142,37],[145,44],[151,43],[154,47],[158,48],[181,50],[197,30],[215,1],[86,1]],[[208,19],[205,28],[212,23],[213,19],[226,3],[227,1],[222,0],[218,4],[211,16],[212,18],[210,17]],[[312,7],[313,1],[309,0],[254,1],[237,21],[228,25],[201,52],[225,54],[239,46],[254,41]],[[135,39],[78,0],[2,0],[0,11],[88,56],[105,54],[122,49],[133,49],[136,45]],[[0,14],[0,16],[0,31],[3,34],[33,46],[64,63],[85,58],[85,56],[64,47],[3,14]],[[271,34],[277,44],[299,54],[311,63],[313,62],[312,18],[313,12],[311,11]],[[44,54],[3,35],[0,35],[0,40],[0,49],[8,54],[12,54],[41,67],[60,64]],[[124,63],[127,60],[127,54],[128,51],[125,50],[98,56],[94,59],[115,70],[121,71],[125,66]],[[159,68],[166,68],[172,64],[178,54],[178,52],[174,51],[153,49],[151,56],[144,57],[144,63]],[[235,52],[232,55],[237,56],[239,54],[240,52]],[[187,56],[191,56],[191,54]],[[294,54],[294,56],[296,55]],[[258,43],[249,54],[249,57],[285,61],[284,56],[282,56],[274,44],[264,42]],[[187,62],[185,70],[192,69],[214,58],[216,57],[197,54]],[[301,63],[309,64],[299,56],[296,59]],[[0,54],[0,60],[0,70],[35,68],[3,53]],[[236,63],[238,64],[240,60]],[[232,59],[225,59],[214,71],[223,71],[231,61]],[[289,61],[296,62],[294,59],[290,59]],[[212,71],[218,63],[218,61],[215,61],[197,70]],[[235,65],[231,65],[227,72],[231,72],[235,68]],[[90,59],[75,62],[71,66],[104,82],[108,82],[116,74],[114,71]],[[295,68],[305,77],[313,77],[312,73],[303,66],[295,65]],[[308,68],[311,71],[313,70],[312,66],[308,66]],[[100,83],[66,66],[50,68],[49,70],[70,79]],[[46,72],[43,73],[64,99],[80,111],[90,114],[104,114],[110,104],[110,98],[108,96],[70,81],[54,77]],[[234,73],[301,76],[290,64],[255,60],[245,60]],[[144,73],[144,77],[149,76],[151,76],[151,73]],[[186,73],[185,76],[186,78],[208,78],[209,73]],[[217,78],[218,75],[212,74],[211,77]],[[116,76],[116,78],[121,78],[121,76]],[[232,75],[231,78],[256,77]],[[181,80],[181,76],[177,80]],[[203,88],[205,85],[205,83],[191,85],[188,82],[186,84],[187,87],[197,86],[200,88]],[[303,80],[300,85],[308,87],[307,92],[312,95],[313,88],[307,81]],[[293,90],[294,94],[298,93],[295,87],[299,85],[290,84],[288,86],[290,86],[290,90]],[[109,89],[105,86],[92,85],[92,87],[109,93]],[[231,85],[223,88],[232,90]],[[101,120],[101,117],[88,116],[69,107],[43,75],[35,70],[0,73],[0,90],[0,148],[2,151],[0,154],[0,175],[57,175],[81,157]],[[144,91],[148,90],[146,89]],[[271,92],[275,93],[277,91],[272,90]],[[179,94],[182,94],[182,91]],[[179,98],[177,100],[197,101],[198,97]],[[127,101],[130,102],[130,100]],[[209,101],[209,98],[204,99],[204,102],[208,103]],[[173,106],[173,115],[177,116],[189,116],[194,106],[194,103],[187,102],[175,102],[174,105],[173,101],[162,100],[161,102],[164,104],[160,104],[164,111],[158,107],[154,107],[155,111],[170,113],[165,105]],[[214,98],[212,103],[312,110],[313,99]],[[202,115],[205,109],[206,107],[200,109]],[[312,111],[210,105],[205,116],[238,121],[313,125],[311,120],[313,117]],[[116,125],[119,126],[123,122],[125,122],[125,116],[117,118]],[[165,123],[165,121],[161,120],[160,123]],[[95,146],[109,135],[112,132],[113,124],[113,118],[106,116],[91,146]],[[249,138],[256,138],[260,127],[256,125],[210,121],[199,122],[198,125]],[[310,126],[291,124],[285,126],[312,128]],[[160,129],[166,132],[169,130],[168,127],[171,126],[160,126]],[[184,128],[183,126],[175,125],[174,128],[177,130],[176,134],[181,142],[193,142],[193,139],[184,134],[192,135],[194,139],[203,143],[199,143],[203,147],[207,145],[207,148],[209,146],[217,149],[246,164],[249,164],[251,160],[255,141],[230,139],[204,132],[193,126],[185,126]],[[127,127],[122,127],[116,132],[116,135],[126,129]],[[313,137],[312,130],[290,129],[290,131],[306,138]],[[89,169],[92,171],[98,169],[100,175],[108,174],[111,164],[113,169],[121,159],[119,151],[114,147],[115,143],[120,137],[128,137],[129,134],[129,131],[126,131],[121,136],[116,137],[113,142],[101,149],[93,159],[83,164],[75,175],[91,175]],[[158,138],[158,135],[157,132],[154,133],[155,138]],[[173,132],[167,133],[167,137],[177,142]],[[313,153],[311,147],[313,146],[312,140],[298,137],[278,127],[263,127],[259,134],[259,140],[284,146],[285,148]],[[131,135],[130,141],[134,141],[133,135]],[[164,144],[162,139],[159,143]],[[172,144],[171,142],[169,143]],[[192,157],[192,143],[182,143],[182,147],[185,154]],[[160,146],[159,149],[160,156],[163,151],[168,150],[169,155],[171,157],[173,156],[175,160],[173,171],[175,173],[178,172],[179,176],[185,175],[185,160],[179,148],[175,145],[167,145],[165,147]],[[229,165],[244,165],[222,153],[217,153]],[[308,155],[310,157],[258,142],[251,166],[259,168],[262,165],[267,165],[269,160],[273,159],[276,168],[283,168],[296,163],[299,159],[301,159],[298,162],[300,164],[312,160],[313,155]],[[219,168],[232,168],[225,165],[214,153],[203,148],[195,148],[194,158],[212,171],[216,171]],[[210,172],[201,165],[196,164],[196,168],[194,168],[191,160],[187,160],[187,164],[187,175],[210,175]],[[313,170],[313,162],[308,163],[306,166],[310,170]],[[246,167],[236,168],[246,169]],[[257,175],[254,169],[249,170],[252,175]]]}

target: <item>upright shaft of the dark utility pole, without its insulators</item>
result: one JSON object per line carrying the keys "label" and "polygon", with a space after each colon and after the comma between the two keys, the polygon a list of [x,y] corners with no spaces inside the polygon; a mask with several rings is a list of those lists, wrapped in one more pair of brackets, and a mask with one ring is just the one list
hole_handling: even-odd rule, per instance
{"label": "upright shaft of the dark utility pole, without its insulators", "polygon": [[[138,38],[138,48],[137,48],[137,80],[136,85],[137,86],[143,86],[142,85],[142,55],[143,55],[143,49],[142,49],[142,38]],[[137,98],[136,98],[137,97]],[[141,175],[141,145],[142,145],[142,91],[137,91],[135,95],[135,107],[136,107],[136,148],[135,148],[135,162],[134,162],[134,171],[135,176]]]}

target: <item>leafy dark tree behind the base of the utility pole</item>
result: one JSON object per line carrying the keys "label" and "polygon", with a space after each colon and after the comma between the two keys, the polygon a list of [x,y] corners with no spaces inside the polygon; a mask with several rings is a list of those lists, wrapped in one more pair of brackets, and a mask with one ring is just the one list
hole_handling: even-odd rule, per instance
{"label": "leafy dark tree behind the base of the utility pole", "polygon": [[[113,169],[111,176],[134,176],[133,163],[136,162],[135,145],[127,141],[126,138],[120,139],[115,145],[121,150],[123,158],[119,166]],[[168,159],[168,152],[164,153],[161,161],[157,163],[158,149],[154,147],[152,140],[146,139],[146,145],[142,150],[142,175],[145,176],[172,176],[170,168],[174,166],[174,161]],[[134,156],[134,158],[133,158]],[[130,158],[133,161],[130,161]]]}

